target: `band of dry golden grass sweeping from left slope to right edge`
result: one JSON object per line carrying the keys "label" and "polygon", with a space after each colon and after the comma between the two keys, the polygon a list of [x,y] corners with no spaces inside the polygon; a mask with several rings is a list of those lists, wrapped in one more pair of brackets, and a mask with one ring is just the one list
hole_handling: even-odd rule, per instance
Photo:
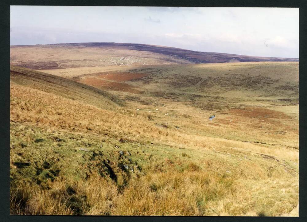
{"label": "band of dry golden grass sweeping from left slope to right edge", "polygon": [[[92,133],[108,134],[114,137],[126,136],[130,139],[138,138],[143,141],[153,140],[168,145],[177,144],[177,146],[207,148],[224,146],[252,152],[258,150],[258,152],[264,154],[298,160],[298,151],[285,148],[284,146],[276,146],[276,148],[272,149],[261,144],[256,145],[254,143],[231,141],[223,138],[212,138],[200,135],[201,129],[206,130],[208,127],[211,134],[226,134],[230,129],[236,129],[236,133],[241,134],[241,137],[247,135],[251,137],[254,135],[255,138],[255,132],[257,132],[257,130],[254,130],[253,133],[250,131],[244,133],[246,128],[242,130],[233,126],[232,128],[229,126],[228,128],[226,126],[212,128],[208,123],[207,126],[197,126],[195,122],[184,122],[184,119],[181,119],[181,121],[175,121],[173,125],[185,124],[185,130],[174,131],[169,128],[165,129],[155,126],[152,121],[147,121],[148,118],[146,114],[138,115],[137,112],[124,108],[118,108],[118,111],[103,110],[76,100],[65,99],[57,95],[23,87],[14,83],[11,84],[10,91],[10,99],[12,101],[10,119],[13,122],[32,123],[37,126],[63,128],[72,131],[91,131]],[[163,117],[162,113],[160,121],[164,122],[165,120],[165,122],[170,122],[169,120],[171,119],[173,119],[173,117],[166,119]],[[270,137],[272,143],[282,143],[282,141],[274,141],[274,136]],[[277,138],[280,137],[278,135],[276,136]],[[289,140],[284,142],[284,144],[293,145],[290,141],[295,140],[295,138],[290,139],[292,134],[288,134],[287,136]],[[262,141],[266,141],[266,139],[267,136]]]}

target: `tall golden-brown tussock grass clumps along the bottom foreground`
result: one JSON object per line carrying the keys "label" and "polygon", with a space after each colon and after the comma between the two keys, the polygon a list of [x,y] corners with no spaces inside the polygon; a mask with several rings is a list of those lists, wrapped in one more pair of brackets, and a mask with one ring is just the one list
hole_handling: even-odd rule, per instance
{"label": "tall golden-brown tussock grass clumps along the bottom foreground", "polygon": [[[48,189],[33,183],[11,188],[11,214],[203,215],[210,201],[234,192],[233,180],[212,173],[168,169],[148,172],[119,187],[98,174],[88,180],[57,177]],[[83,198],[81,198],[83,197]],[[24,201],[24,202],[22,202]],[[21,204],[22,203],[22,204]]]}

